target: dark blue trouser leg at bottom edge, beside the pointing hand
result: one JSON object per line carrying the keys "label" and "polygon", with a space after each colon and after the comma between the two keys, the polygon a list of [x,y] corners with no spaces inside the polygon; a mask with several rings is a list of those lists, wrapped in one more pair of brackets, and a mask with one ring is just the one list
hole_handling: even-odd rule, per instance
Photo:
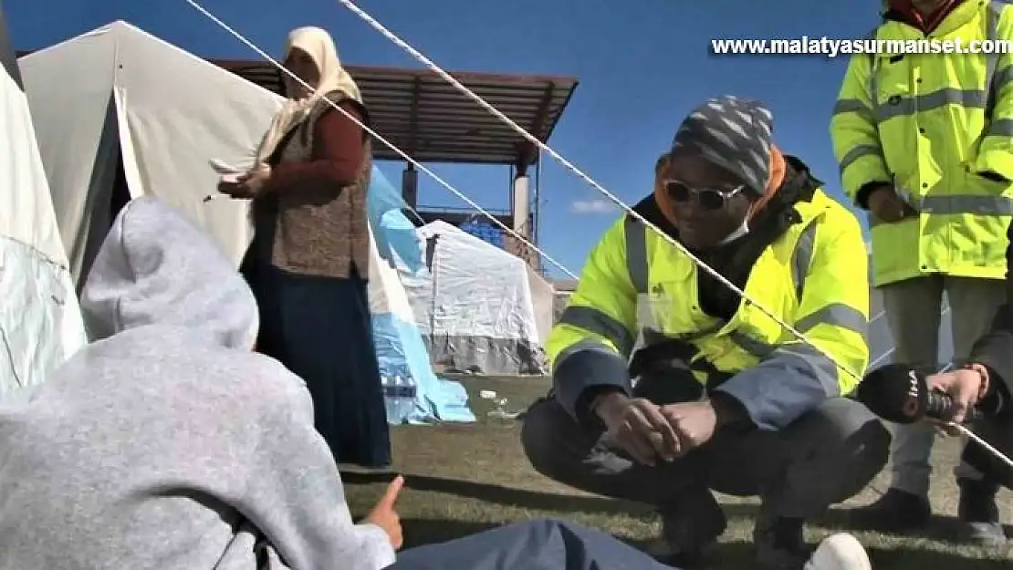
{"label": "dark blue trouser leg at bottom edge, beside the pointing hand", "polygon": [[389,570],[673,570],[615,537],[572,522],[515,522],[406,550]]}

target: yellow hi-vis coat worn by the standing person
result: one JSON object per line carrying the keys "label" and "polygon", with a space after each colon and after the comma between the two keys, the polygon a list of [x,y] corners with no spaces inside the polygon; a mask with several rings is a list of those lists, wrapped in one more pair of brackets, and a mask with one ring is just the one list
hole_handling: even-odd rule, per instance
{"label": "yellow hi-vis coat worn by the standing person", "polygon": [[[1013,7],[966,0],[928,37],[1013,39]],[[886,21],[876,39],[925,34]],[[1013,55],[857,54],[831,123],[845,192],[891,183],[920,215],[870,219],[873,281],[928,273],[1003,278],[1013,214]]]}

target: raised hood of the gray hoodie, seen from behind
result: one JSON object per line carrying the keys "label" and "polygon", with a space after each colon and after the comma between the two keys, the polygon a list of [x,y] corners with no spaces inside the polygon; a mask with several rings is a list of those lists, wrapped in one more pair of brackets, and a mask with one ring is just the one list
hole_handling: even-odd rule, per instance
{"label": "raised hood of the gray hoodie, seen from behind", "polygon": [[256,301],[212,239],[151,196],[116,216],[81,294],[91,340],[149,325],[184,327],[230,348],[250,349]]}

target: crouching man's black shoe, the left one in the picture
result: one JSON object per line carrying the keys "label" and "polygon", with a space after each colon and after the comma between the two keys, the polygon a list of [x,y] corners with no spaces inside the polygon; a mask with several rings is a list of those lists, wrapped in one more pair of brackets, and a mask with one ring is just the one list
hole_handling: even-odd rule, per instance
{"label": "crouching man's black shoe, the left one in the picture", "polygon": [[667,566],[692,568],[707,558],[728,526],[721,505],[709,490],[687,494],[678,504],[660,512],[661,536],[647,554]]}

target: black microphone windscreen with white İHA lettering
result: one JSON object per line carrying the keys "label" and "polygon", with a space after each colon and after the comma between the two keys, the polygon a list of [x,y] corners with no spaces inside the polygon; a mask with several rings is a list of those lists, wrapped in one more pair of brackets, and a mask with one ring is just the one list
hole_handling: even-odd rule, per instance
{"label": "black microphone windscreen with white \u0130HA lettering", "polygon": [[886,421],[915,423],[925,417],[929,388],[910,365],[886,364],[865,375],[855,397]]}

